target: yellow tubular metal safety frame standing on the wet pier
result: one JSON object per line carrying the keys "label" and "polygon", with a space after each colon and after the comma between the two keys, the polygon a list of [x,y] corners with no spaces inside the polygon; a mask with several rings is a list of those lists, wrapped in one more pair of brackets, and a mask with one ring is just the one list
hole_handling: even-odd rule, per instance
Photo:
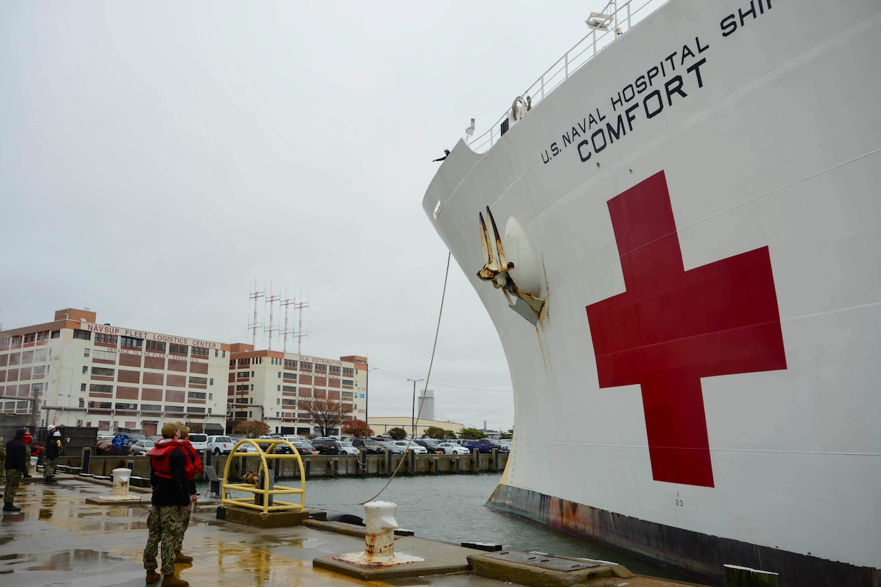
{"label": "yellow tubular metal safety frame standing on the wet pier", "polygon": [[[268,514],[272,511],[302,511],[303,509],[306,509],[306,472],[303,469],[303,460],[300,458],[300,451],[295,449],[290,442],[282,439],[261,438],[259,439],[259,441],[260,442],[258,443],[253,438],[246,438],[245,440],[236,442],[235,446],[233,447],[233,451],[229,454],[229,458],[226,459],[226,466],[224,467],[222,481],[223,487],[221,489],[221,495],[223,495],[224,497],[220,500],[221,505],[234,505],[241,508],[256,509],[258,511],[262,511],[263,514]],[[253,452],[245,452],[244,450],[239,450],[241,446],[246,444],[250,444],[251,446],[253,446],[257,450],[256,454]],[[284,444],[286,447],[288,447],[291,450],[291,454],[274,454],[273,450],[279,444]],[[264,446],[266,447],[265,450],[263,449]],[[233,463],[233,457],[259,457],[260,468],[257,470],[258,479],[261,472],[272,471],[272,468],[270,468],[269,466],[270,462],[273,462],[276,459],[296,459],[298,466],[300,466],[300,487],[282,487],[276,485],[272,489],[260,489],[259,487],[251,485],[249,483],[228,483],[227,479],[229,479],[229,467],[230,464]],[[268,478],[269,475],[267,475],[266,477]],[[226,497],[227,490],[244,491],[249,494],[263,495],[263,500],[261,500],[263,504],[260,505],[255,503],[255,498],[253,497]],[[273,498],[273,505],[270,506],[270,495],[300,495],[300,503],[282,502]]]}

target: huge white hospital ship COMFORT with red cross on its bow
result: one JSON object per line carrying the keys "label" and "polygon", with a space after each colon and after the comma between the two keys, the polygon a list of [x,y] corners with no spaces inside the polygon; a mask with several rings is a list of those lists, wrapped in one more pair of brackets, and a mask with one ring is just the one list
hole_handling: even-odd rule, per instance
{"label": "huge white hospital ship COMFORT with red cross on its bow", "polygon": [[710,583],[877,587],[881,2],[588,23],[423,201],[514,384],[489,504]]}

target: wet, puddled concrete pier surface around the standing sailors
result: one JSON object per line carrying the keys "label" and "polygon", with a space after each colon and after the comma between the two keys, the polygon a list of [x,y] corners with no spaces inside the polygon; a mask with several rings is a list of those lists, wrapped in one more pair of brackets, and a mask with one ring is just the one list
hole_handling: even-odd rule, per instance
{"label": "wet, puddled concrete pier surface around the standing sailors", "polygon": [[[16,496],[16,505],[21,511],[0,512],[0,585],[144,585],[142,554],[147,539],[150,494],[130,493],[130,496],[142,496],[143,505],[92,504],[85,500],[109,496],[111,487],[73,475],[58,474],[57,479],[54,485],[45,485],[41,479],[23,484]],[[183,552],[194,560],[191,564],[177,565],[175,572],[194,587],[329,584],[498,587],[505,584],[469,575],[388,581],[350,578],[313,568],[312,561],[363,551],[364,539],[306,526],[258,529],[216,517],[216,503],[197,509],[184,539]],[[628,587],[682,584],[648,577],[618,580],[618,583]]]}

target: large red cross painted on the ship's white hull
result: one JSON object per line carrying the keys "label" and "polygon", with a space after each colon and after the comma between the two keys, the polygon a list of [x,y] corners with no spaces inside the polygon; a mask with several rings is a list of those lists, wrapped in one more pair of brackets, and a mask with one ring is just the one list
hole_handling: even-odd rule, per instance
{"label": "large red cross painted on the ship's white hull", "polygon": [[600,387],[640,384],[655,480],[713,487],[700,378],[786,368],[768,249],[685,271],[663,171],[608,204],[626,291],[587,307]]}

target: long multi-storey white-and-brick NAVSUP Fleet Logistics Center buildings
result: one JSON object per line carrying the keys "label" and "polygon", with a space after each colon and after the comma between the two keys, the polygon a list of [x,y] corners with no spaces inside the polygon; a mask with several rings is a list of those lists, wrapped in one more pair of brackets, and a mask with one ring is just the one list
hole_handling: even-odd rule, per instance
{"label": "long multi-storey white-and-brick NAVSUP Fleet Logistics Center buildings", "polygon": [[263,420],[273,432],[311,433],[298,398],[337,398],[363,418],[364,357],[255,351],[96,318],[67,308],[52,322],[0,331],[0,412],[30,414],[37,426],[147,435],[175,420],[222,434],[241,419]]}

